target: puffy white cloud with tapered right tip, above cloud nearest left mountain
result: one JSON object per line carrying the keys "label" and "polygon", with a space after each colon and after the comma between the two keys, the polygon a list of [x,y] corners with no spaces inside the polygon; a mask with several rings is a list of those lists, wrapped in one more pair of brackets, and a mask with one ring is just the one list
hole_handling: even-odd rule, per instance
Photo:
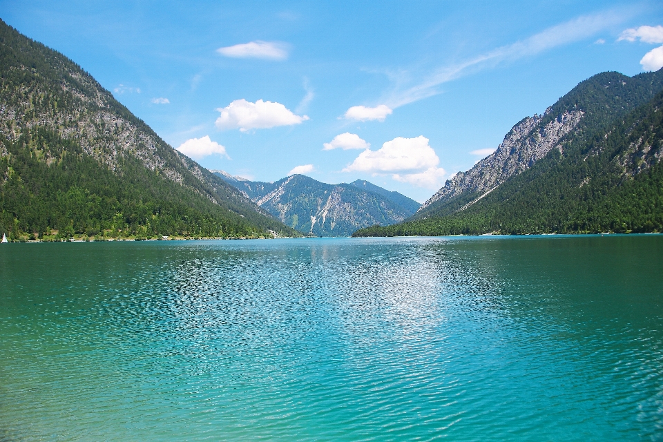
{"label": "puffy white cloud with tapered right tip, above cloud nearest left mountain", "polygon": [[218,108],[217,111],[221,113],[215,123],[218,128],[239,128],[242,132],[250,129],[291,126],[309,119],[306,115],[301,117],[295,115],[280,103],[263,102],[262,99],[255,103],[247,102],[243,98],[236,99],[228,106]]}

